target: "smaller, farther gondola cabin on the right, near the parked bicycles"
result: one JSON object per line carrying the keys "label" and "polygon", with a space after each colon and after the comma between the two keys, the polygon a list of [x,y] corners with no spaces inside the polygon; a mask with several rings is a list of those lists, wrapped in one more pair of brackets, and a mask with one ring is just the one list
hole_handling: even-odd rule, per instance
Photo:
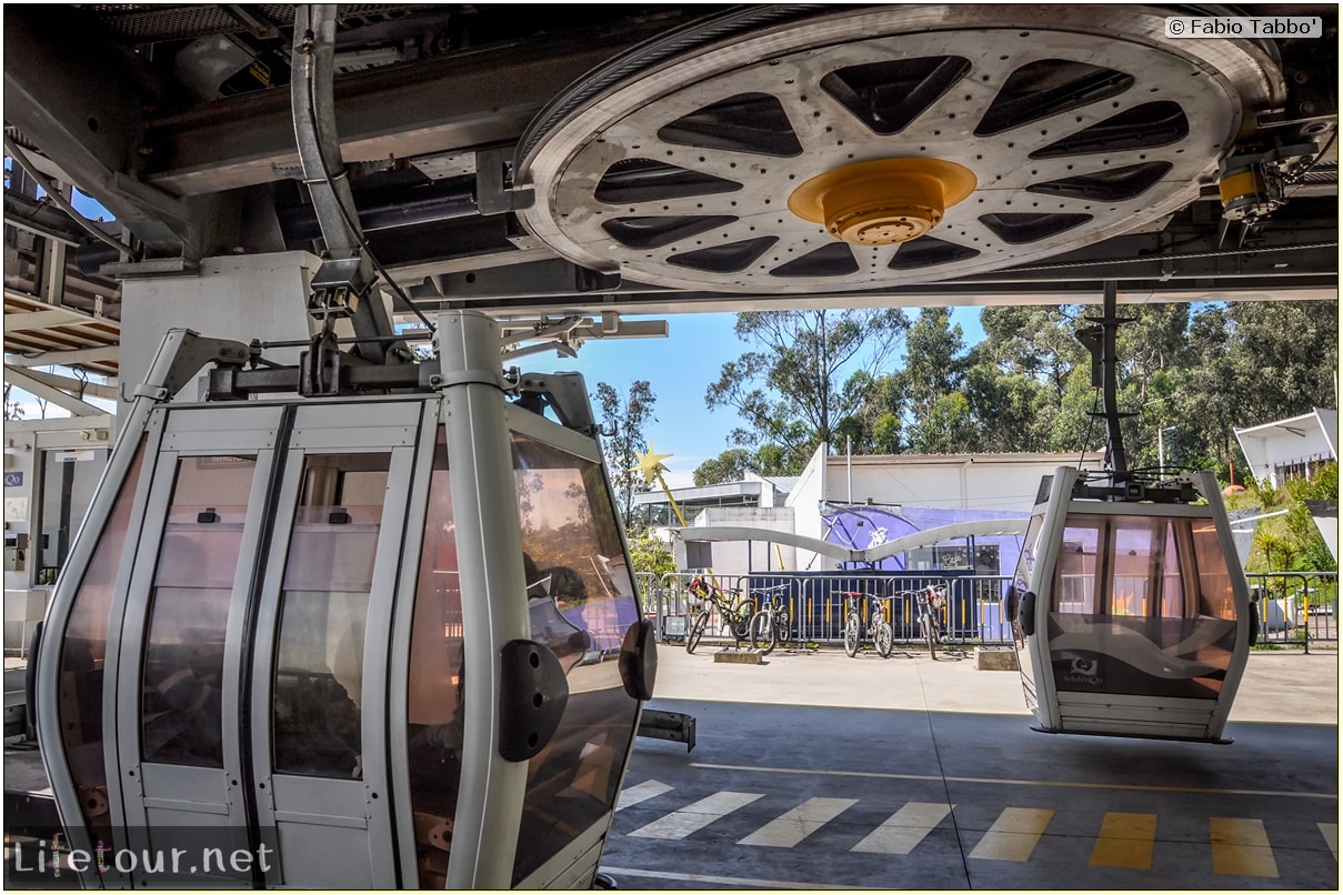
{"label": "smaller, farther gondola cabin on the right, near the parked bicycles", "polygon": [[1044,480],[1009,597],[1034,727],[1225,742],[1253,624],[1215,478],[1088,491]]}

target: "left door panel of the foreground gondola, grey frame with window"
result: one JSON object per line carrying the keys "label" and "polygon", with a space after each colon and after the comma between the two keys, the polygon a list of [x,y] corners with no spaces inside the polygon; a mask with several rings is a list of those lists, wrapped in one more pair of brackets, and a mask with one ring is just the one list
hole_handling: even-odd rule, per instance
{"label": "left door panel of the foreground gondola, grey frame with window", "polygon": [[238,884],[252,870],[232,860],[251,852],[239,656],[282,412],[157,413],[145,535],[109,662],[125,844],[160,857],[118,870],[136,886]]}

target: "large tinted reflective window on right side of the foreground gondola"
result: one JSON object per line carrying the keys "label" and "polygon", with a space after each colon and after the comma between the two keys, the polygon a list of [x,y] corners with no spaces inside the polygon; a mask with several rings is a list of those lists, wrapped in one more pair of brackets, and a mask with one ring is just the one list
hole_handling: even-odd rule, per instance
{"label": "large tinted reflective window on right side of the foreground gondola", "polygon": [[639,607],[600,463],[514,436],[513,470],[532,637],[569,680],[560,729],[528,769],[516,884],[615,806],[638,706],[619,655]]}

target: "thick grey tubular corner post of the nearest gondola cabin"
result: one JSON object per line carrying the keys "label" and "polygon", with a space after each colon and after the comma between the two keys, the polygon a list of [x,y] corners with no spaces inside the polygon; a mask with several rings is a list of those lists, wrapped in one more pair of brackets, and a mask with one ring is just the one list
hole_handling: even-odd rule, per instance
{"label": "thick grey tubular corner post of the nearest gondola cabin", "polygon": [[500,755],[500,648],[530,637],[522,531],[498,325],[478,311],[438,323],[443,428],[462,584],[466,723],[447,888],[512,888],[526,762]]}

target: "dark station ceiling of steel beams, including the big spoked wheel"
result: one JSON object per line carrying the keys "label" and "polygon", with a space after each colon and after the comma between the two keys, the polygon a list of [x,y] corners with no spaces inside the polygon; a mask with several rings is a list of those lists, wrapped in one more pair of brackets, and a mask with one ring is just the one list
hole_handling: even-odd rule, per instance
{"label": "dark station ceiling of steel beams, including the big spoked wheel", "polygon": [[[367,250],[430,311],[1336,298],[1338,7],[1273,11],[1322,36],[1164,36],[1245,12],[1206,5],[342,4],[333,123]],[[7,156],[133,254],[9,189],[7,223],[103,293],[321,251],[294,23],[7,4]]]}

